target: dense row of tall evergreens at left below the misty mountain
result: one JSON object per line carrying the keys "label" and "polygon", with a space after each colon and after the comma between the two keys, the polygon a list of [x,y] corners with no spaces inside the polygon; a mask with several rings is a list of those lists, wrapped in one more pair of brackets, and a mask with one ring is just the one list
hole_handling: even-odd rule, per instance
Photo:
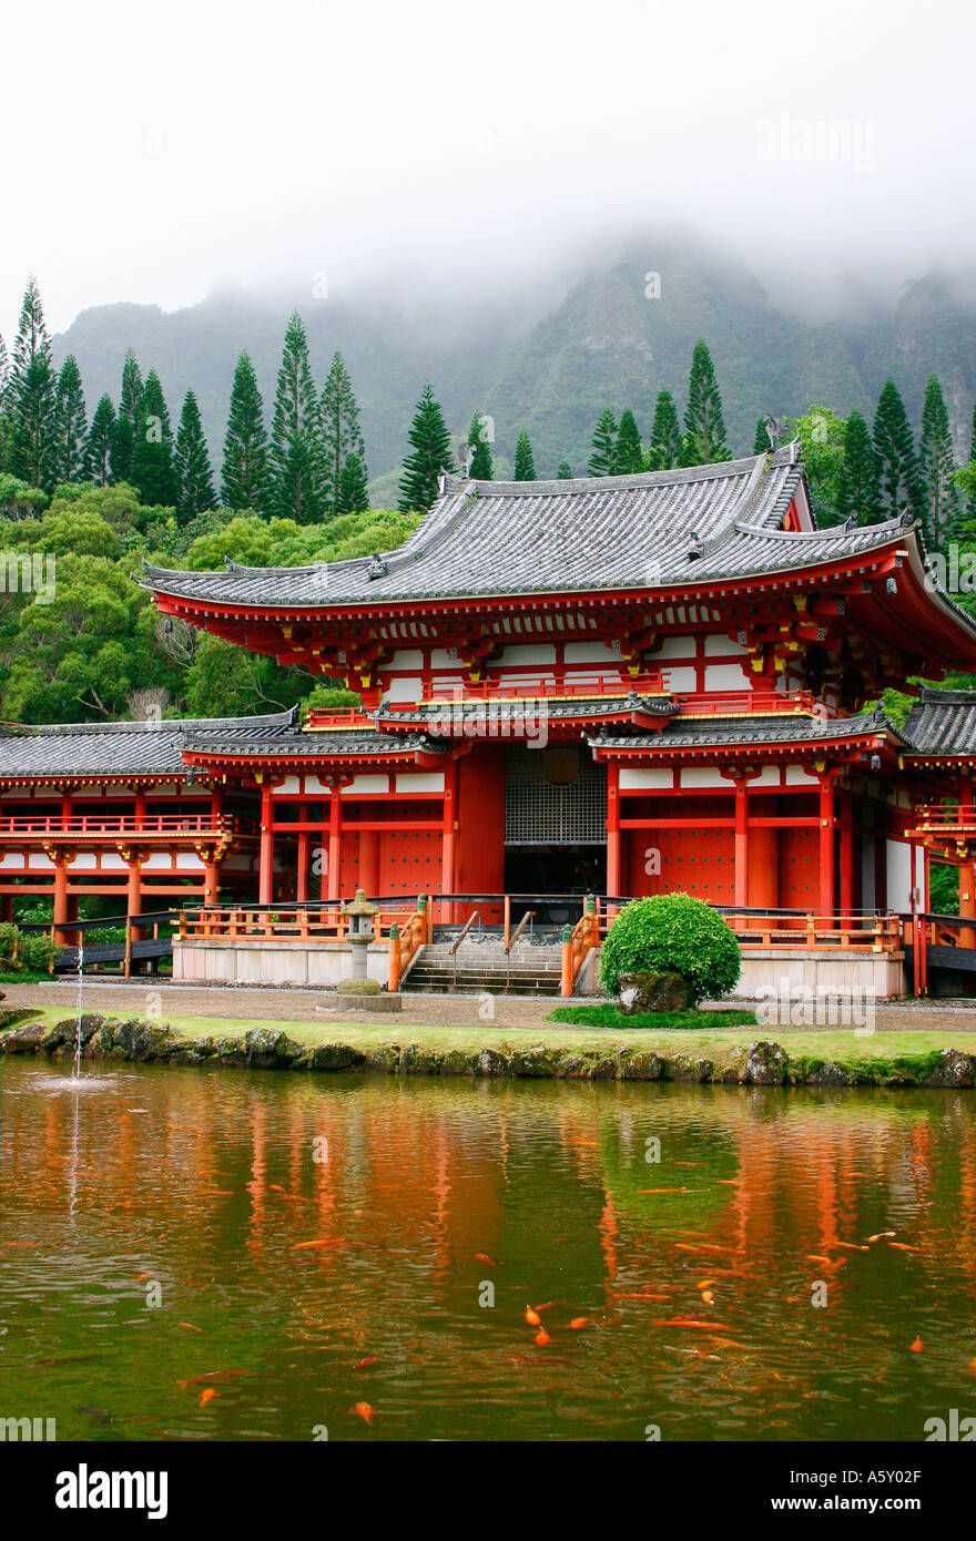
{"label": "dense row of tall evergreens at left below the misty mountain", "polygon": [[[217,507],[200,410],[188,390],[173,431],[156,370],[145,381],[130,350],[119,402],[103,394],[91,422],[74,354],[60,370],[35,279],[29,279],[12,354],[0,337],[0,475],[49,498],[57,487],[126,484],[140,504],[176,510],[177,524]],[[29,501],[29,499],[28,499]],[[342,354],[319,394],[298,313],[285,330],[271,430],[254,368],[241,353],[230,394],[220,501],[267,518],[316,524],[369,509],[359,405]]]}

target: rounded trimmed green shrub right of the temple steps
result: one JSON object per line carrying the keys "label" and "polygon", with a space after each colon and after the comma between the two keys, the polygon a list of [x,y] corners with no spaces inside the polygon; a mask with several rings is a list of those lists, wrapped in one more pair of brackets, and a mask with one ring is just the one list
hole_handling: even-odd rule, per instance
{"label": "rounded trimmed green shrub right of the temple steps", "polygon": [[600,974],[615,995],[621,974],[680,974],[695,1003],[726,995],[742,972],[739,943],[711,905],[691,894],[655,894],[624,905],[600,952]]}

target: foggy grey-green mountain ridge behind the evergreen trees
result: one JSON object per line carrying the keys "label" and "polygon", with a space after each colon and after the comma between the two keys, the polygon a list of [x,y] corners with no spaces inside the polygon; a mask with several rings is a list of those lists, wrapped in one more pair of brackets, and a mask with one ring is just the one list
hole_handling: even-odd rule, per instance
{"label": "foggy grey-green mountain ridge behind the evergreen trees", "polygon": [[[606,251],[606,245],[603,248]],[[976,297],[930,273],[897,299],[848,294],[833,314],[805,316],[776,304],[729,253],[695,237],[641,237],[584,265],[575,280],[512,287],[504,297],[472,293],[407,302],[373,291],[339,299],[216,293],[165,313],[154,305],[100,305],[56,337],[56,359],[74,353],[88,411],[119,396],[133,348],[143,376],[160,374],[173,425],[193,387],[219,472],[237,354],[251,354],[268,421],[288,311],[305,322],[321,388],[332,354],[350,368],[362,413],[375,504],[395,499],[395,472],[424,381],[430,379],[459,441],[472,413],[493,419],[495,475],[510,475],[515,441],[529,431],[540,478],[567,459],[584,475],[604,407],[635,413],[651,430],[654,399],[669,388],[685,410],[697,337],[708,342],[722,388],[729,448],[748,453],[757,418],[797,415],[822,402],[871,421],[891,374],[917,425],[925,379],[939,374],[957,459],[970,450],[976,393]]]}

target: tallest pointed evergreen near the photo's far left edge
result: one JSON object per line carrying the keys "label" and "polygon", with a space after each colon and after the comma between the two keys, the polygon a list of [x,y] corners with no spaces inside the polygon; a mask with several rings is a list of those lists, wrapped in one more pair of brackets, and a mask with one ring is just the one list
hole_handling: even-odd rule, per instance
{"label": "tallest pointed evergreen near the photo's far left edge", "polygon": [[45,325],[37,279],[31,277],[23,296],[14,361],[8,382],[11,416],[9,465],[14,476],[52,492],[57,479],[54,419],[57,376],[51,359],[51,339]]}

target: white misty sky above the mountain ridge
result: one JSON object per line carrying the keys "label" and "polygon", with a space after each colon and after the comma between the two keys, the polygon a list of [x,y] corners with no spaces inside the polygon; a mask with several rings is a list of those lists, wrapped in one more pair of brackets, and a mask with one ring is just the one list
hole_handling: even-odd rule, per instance
{"label": "white misty sky above the mountain ridge", "polygon": [[316,273],[463,296],[671,217],[814,287],[968,264],[974,42],[965,0],[5,6],[0,330],[31,271],[52,330]]}

